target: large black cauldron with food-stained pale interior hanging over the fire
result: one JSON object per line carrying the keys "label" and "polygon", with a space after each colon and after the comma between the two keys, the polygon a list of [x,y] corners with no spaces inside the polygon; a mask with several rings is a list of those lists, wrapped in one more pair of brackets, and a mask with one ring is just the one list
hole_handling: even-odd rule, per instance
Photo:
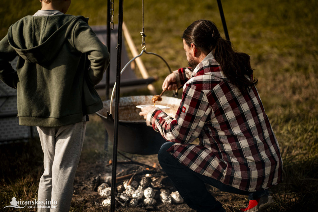
{"label": "large black cauldron with food-stained pale interior hanging over the fire", "polygon": [[[143,117],[139,116],[141,109],[136,105],[153,104],[153,96],[128,96],[121,97],[119,101],[119,126],[118,126],[118,149],[132,154],[150,155],[157,154],[161,145],[166,140],[159,132],[146,125]],[[163,96],[161,102],[156,104],[169,106],[163,111],[169,116],[174,117],[179,108],[181,99]],[[110,109],[110,100],[104,101],[104,108],[98,111],[105,125],[111,141],[114,140],[114,119],[107,116]],[[113,102],[113,111],[114,109]]]}

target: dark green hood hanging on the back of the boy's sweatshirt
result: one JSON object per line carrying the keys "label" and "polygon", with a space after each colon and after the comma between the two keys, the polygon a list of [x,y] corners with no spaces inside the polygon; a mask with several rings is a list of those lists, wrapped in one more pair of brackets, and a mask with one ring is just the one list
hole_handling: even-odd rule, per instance
{"label": "dark green hood hanging on the back of the boy's sweatshirt", "polygon": [[26,16],[10,26],[9,44],[24,60],[45,64],[70,38],[78,19],[88,22],[88,18],[73,15]]}

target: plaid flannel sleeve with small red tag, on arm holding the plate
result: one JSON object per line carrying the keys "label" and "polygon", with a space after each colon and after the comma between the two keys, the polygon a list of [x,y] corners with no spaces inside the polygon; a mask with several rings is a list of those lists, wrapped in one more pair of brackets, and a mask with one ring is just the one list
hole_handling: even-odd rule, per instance
{"label": "plaid flannel sleeve with small red tag, on arm holding the plate", "polygon": [[197,86],[186,84],[175,119],[162,110],[153,109],[149,111],[146,120],[167,141],[188,144],[200,135],[210,112],[206,94]]}

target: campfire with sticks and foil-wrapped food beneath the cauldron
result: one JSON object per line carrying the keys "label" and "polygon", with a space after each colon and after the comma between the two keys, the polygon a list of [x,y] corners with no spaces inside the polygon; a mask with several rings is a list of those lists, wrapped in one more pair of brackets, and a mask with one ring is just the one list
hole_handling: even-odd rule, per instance
{"label": "campfire with sticks and foil-wrapped food beneath the cauldron", "polygon": [[[121,153],[120,153],[121,154]],[[121,154],[123,155],[123,154]],[[116,177],[115,206],[119,207],[140,207],[147,210],[154,210],[161,204],[183,203],[181,195],[176,191],[168,176],[156,163],[149,166],[134,161],[123,155],[124,161],[117,161],[118,165],[128,165]],[[109,160],[106,166],[112,165]],[[102,206],[110,206],[111,177],[100,177],[100,185],[96,185],[97,192],[105,199]]]}

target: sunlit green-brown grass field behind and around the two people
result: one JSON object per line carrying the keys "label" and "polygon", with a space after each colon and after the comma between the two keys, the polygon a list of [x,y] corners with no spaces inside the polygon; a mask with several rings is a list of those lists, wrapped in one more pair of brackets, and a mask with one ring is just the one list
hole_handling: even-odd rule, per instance
{"label": "sunlit green-brown grass field behind and around the two people", "polygon": [[[105,3],[73,0],[68,14],[89,17],[90,25],[104,25]],[[256,69],[254,76],[259,80],[257,88],[280,144],[284,182],[273,187],[275,207],[269,211],[315,211],[318,207],[318,2],[224,0],[222,4],[233,46],[251,55],[251,65]],[[141,0],[124,2],[124,21],[137,47],[141,43],[141,6]],[[118,1],[115,1],[115,23],[117,8]],[[38,9],[37,0],[1,0],[0,38],[12,23]],[[180,36],[188,25],[201,18],[214,21],[223,32],[216,1],[145,1],[147,50],[161,54],[173,69],[186,66]],[[159,92],[168,70],[151,56],[142,60],[149,74],[159,77],[154,83]],[[122,95],[140,94],[148,91],[141,89]],[[98,117],[88,123],[80,165],[105,157],[104,130],[100,123]],[[43,172],[38,143],[31,140],[0,147],[1,208],[8,205],[12,194],[24,200],[36,197]],[[74,211],[81,210],[73,203],[72,207]]]}

